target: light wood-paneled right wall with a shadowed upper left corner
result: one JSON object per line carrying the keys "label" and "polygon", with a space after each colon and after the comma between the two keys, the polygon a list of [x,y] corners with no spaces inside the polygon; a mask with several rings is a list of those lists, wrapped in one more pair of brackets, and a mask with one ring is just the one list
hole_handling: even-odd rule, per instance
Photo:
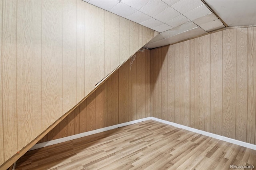
{"label": "light wood-paneled right wall with a shadowed upper left corner", "polygon": [[152,116],[256,144],[256,27],[151,51]]}

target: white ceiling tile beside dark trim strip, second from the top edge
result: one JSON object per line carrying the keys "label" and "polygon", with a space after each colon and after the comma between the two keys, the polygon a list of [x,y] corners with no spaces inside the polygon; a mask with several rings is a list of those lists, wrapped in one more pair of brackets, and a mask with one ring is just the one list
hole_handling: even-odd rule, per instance
{"label": "white ceiling tile beside dark trim strip, second from the top edge", "polygon": [[201,5],[197,8],[194,8],[193,10],[190,10],[186,13],[184,13],[184,16],[186,16],[191,21],[196,20],[197,18],[201,18],[203,16],[206,16],[208,14],[212,13],[206,5]]}

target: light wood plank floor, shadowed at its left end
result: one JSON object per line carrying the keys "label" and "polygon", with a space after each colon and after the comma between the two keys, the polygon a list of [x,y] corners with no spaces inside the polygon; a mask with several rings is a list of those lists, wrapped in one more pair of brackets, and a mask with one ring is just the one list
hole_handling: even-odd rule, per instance
{"label": "light wood plank floor, shadowed at its left end", "polygon": [[256,167],[256,150],[150,120],[29,151],[16,170],[226,170],[231,164]]}

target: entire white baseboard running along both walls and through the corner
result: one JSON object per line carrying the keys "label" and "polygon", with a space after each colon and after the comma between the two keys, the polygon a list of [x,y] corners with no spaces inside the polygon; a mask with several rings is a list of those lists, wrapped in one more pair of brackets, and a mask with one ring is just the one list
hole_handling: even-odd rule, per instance
{"label": "entire white baseboard running along both walls and through the corner", "polygon": [[139,122],[148,121],[148,120],[158,121],[158,122],[161,122],[161,123],[164,123],[164,124],[167,124],[167,125],[172,125],[174,127],[182,128],[182,129],[185,129],[185,130],[189,130],[191,132],[196,132],[196,133],[199,133],[199,134],[203,134],[205,136],[209,136],[209,137],[212,137],[212,138],[216,138],[216,139],[219,139],[219,140],[223,140],[223,141],[226,141],[226,142],[230,142],[230,143],[233,143],[233,144],[237,144],[237,145],[240,145],[240,146],[244,146],[246,148],[256,150],[256,145],[255,144],[250,144],[250,143],[242,142],[240,140],[228,138],[228,137],[225,137],[225,136],[220,136],[218,134],[205,132],[203,130],[198,130],[196,128],[186,127],[184,125],[180,125],[180,124],[169,122],[169,121],[164,121],[162,119],[158,119],[158,118],[155,118],[155,117],[146,117],[146,118],[143,118],[143,119],[138,119],[138,120],[135,120],[135,121],[121,123],[121,124],[113,125],[113,126],[110,126],[110,127],[100,128],[100,129],[92,130],[92,131],[89,131],[89,132],[79,133],[79,134],[75,134],[75,135],[72,135],[72,136],[67,136],[67,137],[60,138],[60,139],[50,140],[48,142],[42,142],[42,143],[39,143],[39,144],[35,144],[32,148],[30,148],[30,150],[43,148],[45,146],[50,146],[50,145],[53,145],[53,144],[66,142],[68,140],[73,140],[73,139],[81,138],[81,137],[88,136],[88,135],[91,135],[91,134],[96,134],[96,133],[99,133],[99,132],[104,132],[104,131],[111,130],[111,129],[114,129],[114,128],[124,127],[124,126],[127,126],[127,125],[132,125],[134,123],[139,123]]}

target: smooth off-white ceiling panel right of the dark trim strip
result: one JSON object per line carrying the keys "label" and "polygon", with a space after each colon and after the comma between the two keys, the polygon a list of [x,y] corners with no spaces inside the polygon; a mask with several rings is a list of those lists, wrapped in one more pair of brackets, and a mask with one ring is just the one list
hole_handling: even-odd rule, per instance
{"label": "smooth off-white ceiling panel right of the dark trim strip", "polygon": [[256,0],[205,0],[228,26],[256,24]]}

